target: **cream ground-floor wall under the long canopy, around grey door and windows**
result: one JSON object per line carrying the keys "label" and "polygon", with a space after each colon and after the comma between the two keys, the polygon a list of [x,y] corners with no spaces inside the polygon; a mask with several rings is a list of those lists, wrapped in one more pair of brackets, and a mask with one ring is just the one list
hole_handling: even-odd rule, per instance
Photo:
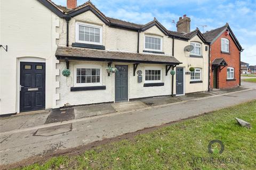
{"label": "cream ground-floor wall under the long canopy, around grey door and windows", "polygon": [[[89,64],[102,66],[102,86],[106,86],[106,90],[86,90],[86,91],[70,91],[74,87],[74,65],[76,64]],[[151,96],[171,95],[171,74],[165,75],[165,66],[157,64],[139,64],[137,71],[142,71],[143,82],[138,83],[137,73],[133,76],[133,64],[130,63],[112,63],[115,65],[128,65],[128,98],[142,98]],[[63,75],[57,77],[60,82],[60,88],[57,92],[60,94],[60,100],[57,101],[57,106],[62,107],[65,105],[83,105],[93,103],[105,103],[115,101],[115,74],[108,76],[106,72],[106,62],[77,62],[71,61],[69,69],[71,71],[70,77],[66,78]],[[162,70],[162,82],[164,86],[159,87],[143,87],[145,83],[145,69],[147,67],[158,67]],[[61,61],[57,65],[57,69],[62,72],[66,69],[66,63]]]}

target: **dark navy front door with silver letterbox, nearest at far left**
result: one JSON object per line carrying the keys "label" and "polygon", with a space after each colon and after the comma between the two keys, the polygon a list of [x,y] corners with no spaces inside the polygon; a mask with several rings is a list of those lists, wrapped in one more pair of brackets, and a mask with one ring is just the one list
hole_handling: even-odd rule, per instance
{"label": "dark navy front door with silver letterbox, nearest at far left", "polygon": [[45,63],[20,63],[20,112],[45,109]]}

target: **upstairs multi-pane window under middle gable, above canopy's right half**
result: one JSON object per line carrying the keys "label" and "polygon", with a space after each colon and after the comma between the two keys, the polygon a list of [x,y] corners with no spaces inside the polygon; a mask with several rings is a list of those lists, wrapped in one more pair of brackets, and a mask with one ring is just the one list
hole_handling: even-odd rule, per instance
{"label": "upstairs multi-pane window under middle gable, above canopy's right half", "polygon": [[145,36],[145,50],[162,52],[162,38]]}

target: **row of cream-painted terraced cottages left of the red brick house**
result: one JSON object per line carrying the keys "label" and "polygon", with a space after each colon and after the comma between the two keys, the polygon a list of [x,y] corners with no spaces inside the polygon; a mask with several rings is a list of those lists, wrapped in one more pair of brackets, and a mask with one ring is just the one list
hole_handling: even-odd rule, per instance
{"label": "row of cream-painted terraced cottages left of the red brick house", "polygon": [[[23,5],[18,17],[31,18],[20,21],[21,29],[11,24],[19,18],[2,7],[19,11],[17,3]],[[1,114],[210,88],[209,43],[198,29],[190,31],[186,15],[170,31],[155,18],[145,24],[109,18],[90,1],[77,6],[68,0],[67,7],[1,1],[1,27],[1,44],[8,45],[7,52],[1,49]]]}

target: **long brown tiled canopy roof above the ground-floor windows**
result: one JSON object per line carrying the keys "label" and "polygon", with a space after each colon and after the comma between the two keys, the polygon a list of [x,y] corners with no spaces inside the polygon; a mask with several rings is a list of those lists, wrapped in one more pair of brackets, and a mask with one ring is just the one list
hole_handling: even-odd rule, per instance
{"label": "long brown tiled canopy roof above the ground-floor windows", "polygon": [[76,47],[61,47],[56,50],[55,56],[58,60],[87,60],[87,61],[116,61],[133,63],[155,63],[155,64],[181,64],[173,56],[158,54],[141,54],[128,52],[114,52],[108,50],[97,50]]}

